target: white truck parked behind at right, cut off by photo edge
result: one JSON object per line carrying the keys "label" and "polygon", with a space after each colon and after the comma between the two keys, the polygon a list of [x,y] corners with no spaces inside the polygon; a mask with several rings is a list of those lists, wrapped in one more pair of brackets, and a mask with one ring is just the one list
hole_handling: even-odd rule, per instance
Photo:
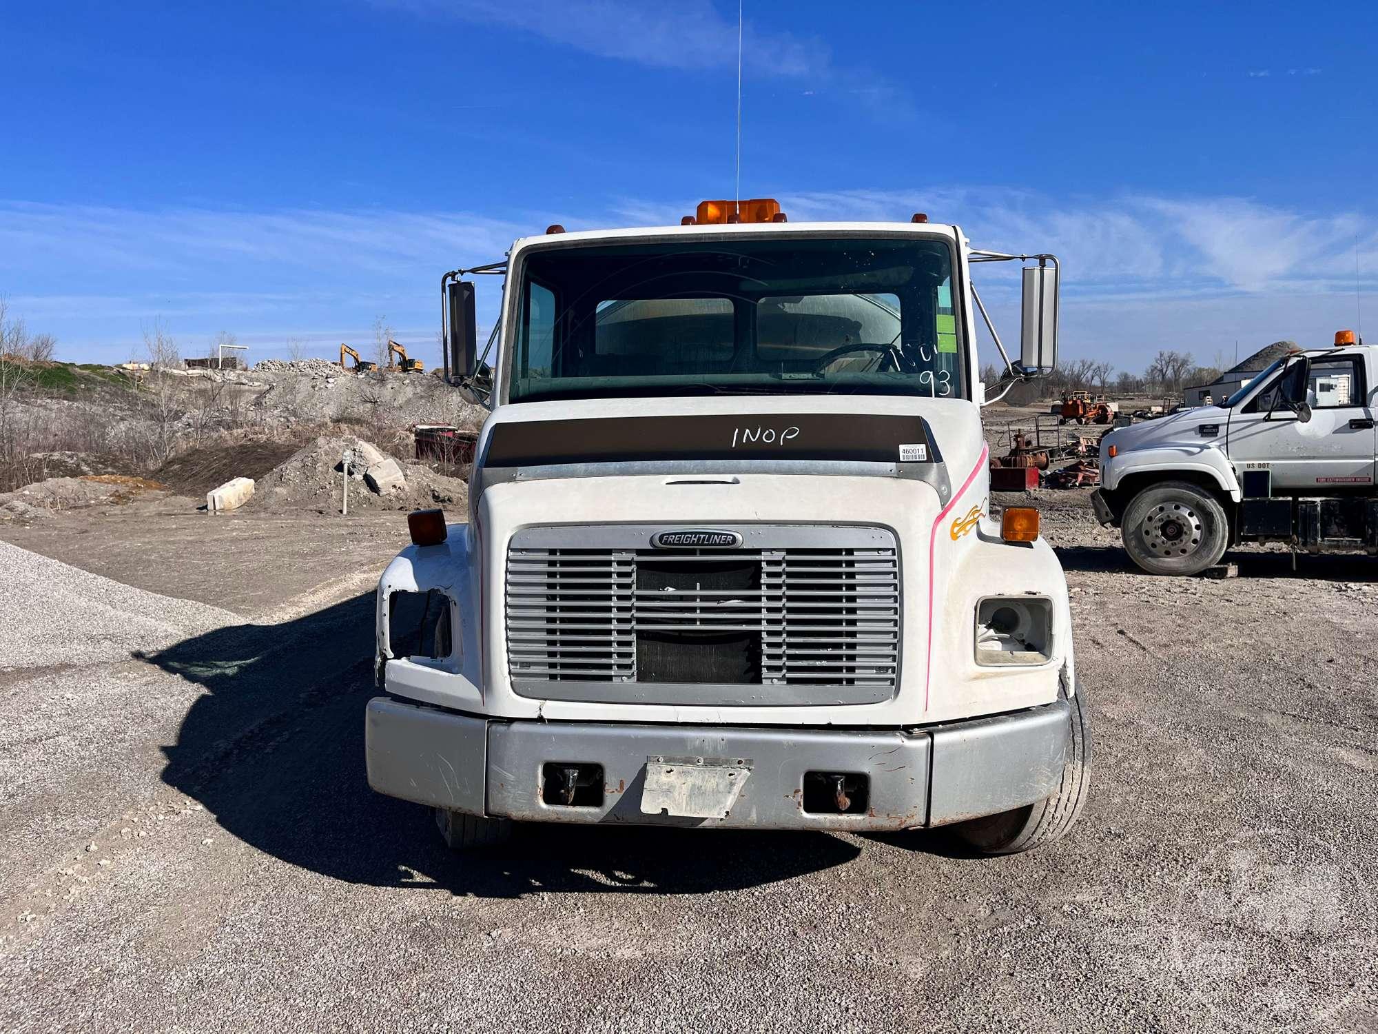
{"label": "white truck parked behind at right, cut off by photo edge", "polygon": [[1375,408],[1378,349],[1339,331],[1218,405],[1105,434],[1091,503],[1158,575],[1204,571],[1239,542],[1378,554]]}

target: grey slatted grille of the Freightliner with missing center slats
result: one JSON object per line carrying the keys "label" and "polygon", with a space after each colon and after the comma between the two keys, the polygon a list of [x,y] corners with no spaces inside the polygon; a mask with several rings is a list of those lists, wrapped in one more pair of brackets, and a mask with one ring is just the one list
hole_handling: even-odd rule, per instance
{"label": "grey slatted grille of the Freightliner with missing center slats", "polygon": [[893,546],[513,545],[506,602],[518,684],[850,687],[887,699],[898,680]]}

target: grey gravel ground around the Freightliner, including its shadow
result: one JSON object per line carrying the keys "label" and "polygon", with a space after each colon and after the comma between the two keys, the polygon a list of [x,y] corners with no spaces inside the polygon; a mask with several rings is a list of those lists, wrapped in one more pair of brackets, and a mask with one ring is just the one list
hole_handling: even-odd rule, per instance
{"label": "grey gravel ground around the Freightliner, including its shadow", "polygon": [[56,572],[131,618],[4,604],[44,645],[0,671],[0,1027],[1378,1030],[1378,564],[1152,579],[1062,499],[1096,775],[1069,837],[1003,859],[533,827],[459,862],[364,782],[367,593],[296,614],[244,550],[258,625],[4,549],[8,597]]}

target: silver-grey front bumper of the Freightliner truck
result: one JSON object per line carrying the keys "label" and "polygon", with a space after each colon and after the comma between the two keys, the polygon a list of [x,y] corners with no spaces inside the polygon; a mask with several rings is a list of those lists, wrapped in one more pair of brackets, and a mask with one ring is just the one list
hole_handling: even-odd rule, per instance
{"label": "silver-grey front bumper of the Freightliner truck", "polygon": [[[883,830],[995,815],[1051,794],[1071,733],[1067,700],[929,728],[861,732],[792,728],[497,721],[378,696],[365,716],[376,791],[470,815],[754,829]],[[734,758],[750,773],[728,813],[642,812],[648,761]],[[546,765],[601,767],[595,805],[547,804]],[[805,778],[863,780],[865,811],[808,811]],[[810,776],[812,779],[813,776]]]}

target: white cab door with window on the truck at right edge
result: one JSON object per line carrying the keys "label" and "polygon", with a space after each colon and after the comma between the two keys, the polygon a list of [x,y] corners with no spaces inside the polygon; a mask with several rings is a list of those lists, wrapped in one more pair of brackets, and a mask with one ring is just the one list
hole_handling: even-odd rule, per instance
{"label": "white cab door with window on the truck at right edge", "polygon": [[[1374,412],[1364,353],[1298,357],[1229,415],[1226,452],[1235,473],[1271,470],[1275,495],[1326,495],[1374,484]],[[1310,405],[1302,422],[1286,398]],[[1282,396],[1282,397],[1279,397]]]}

